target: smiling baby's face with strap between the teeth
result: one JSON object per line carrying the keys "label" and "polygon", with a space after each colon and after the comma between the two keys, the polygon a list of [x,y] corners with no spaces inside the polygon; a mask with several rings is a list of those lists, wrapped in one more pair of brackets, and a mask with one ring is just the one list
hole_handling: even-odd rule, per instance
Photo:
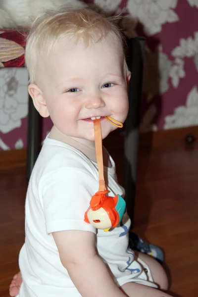
{"label": "smiling baby's face with strap between the teeth", "polygon": [[128,113],[127,78],[115,37],[85,47],[62,40],[44,59],[40,82],[50,117],[64,135],[94,140],[91,118],[101,117],[102,138],[116,127],[104,116],[124,122]]}

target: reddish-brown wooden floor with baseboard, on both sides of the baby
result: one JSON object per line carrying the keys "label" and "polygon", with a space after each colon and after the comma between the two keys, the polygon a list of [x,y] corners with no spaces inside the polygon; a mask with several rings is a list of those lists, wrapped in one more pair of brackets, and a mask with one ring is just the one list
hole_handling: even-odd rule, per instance
{"label": "reddish-brown wooden floor with baseboard, on both sides of the baby", "polygon": [[[110,148],[110,147],[109,147]],[[109,149],[108,148],[108,149]],[[122,168],[122,148],[113,154]],[[2,154],[1,154],[2,156]],[[12,162],[14,163],[14,161]],[[27,188],[24,162],[0,162],[0,297],[18,271],[24,242],[24,201]],[[120,177],[121,178],[121,177]],[[165,251],[171,292],[177,297],[198,296],[198,144],[183,140],[141,142],[135,209],[135,231]]]}

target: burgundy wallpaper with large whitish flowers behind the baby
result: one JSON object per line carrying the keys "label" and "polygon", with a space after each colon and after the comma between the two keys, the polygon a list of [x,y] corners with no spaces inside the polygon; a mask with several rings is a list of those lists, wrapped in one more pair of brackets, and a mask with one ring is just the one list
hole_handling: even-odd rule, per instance
{"label": "burgundy wallpaper with large whitish flowers behind the baby", "polygon": [[[147,38],[141,130],[197,125],[198,0],[85,2],[109,13],[122,11],[127,36],[135,31]],[[0,68],[0,150],[26,147],[27,85],[25,68]],[[50,127],[45,119],[43,138]]]}

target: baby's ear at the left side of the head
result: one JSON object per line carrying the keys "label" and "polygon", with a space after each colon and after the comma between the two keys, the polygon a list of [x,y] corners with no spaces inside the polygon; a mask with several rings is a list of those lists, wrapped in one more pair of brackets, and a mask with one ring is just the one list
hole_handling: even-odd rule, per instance
{"label": "baby's ear at the left side of the head", "polygon": [[43,117],[48,117],[49,111],[41,89],[35,84],[30,84],[28,87],[28,92],[32,97],[34,106],[40,115]]}

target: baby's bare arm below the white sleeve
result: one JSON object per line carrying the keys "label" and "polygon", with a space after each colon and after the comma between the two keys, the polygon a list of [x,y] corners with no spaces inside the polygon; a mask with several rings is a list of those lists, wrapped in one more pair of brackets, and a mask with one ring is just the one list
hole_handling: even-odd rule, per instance
{"label": "baby's bare arm below the white sleeve", "polygon": [[52,235],[61,263],[82,297],[126,297],[97,255],[93,232],[58,231]]}

